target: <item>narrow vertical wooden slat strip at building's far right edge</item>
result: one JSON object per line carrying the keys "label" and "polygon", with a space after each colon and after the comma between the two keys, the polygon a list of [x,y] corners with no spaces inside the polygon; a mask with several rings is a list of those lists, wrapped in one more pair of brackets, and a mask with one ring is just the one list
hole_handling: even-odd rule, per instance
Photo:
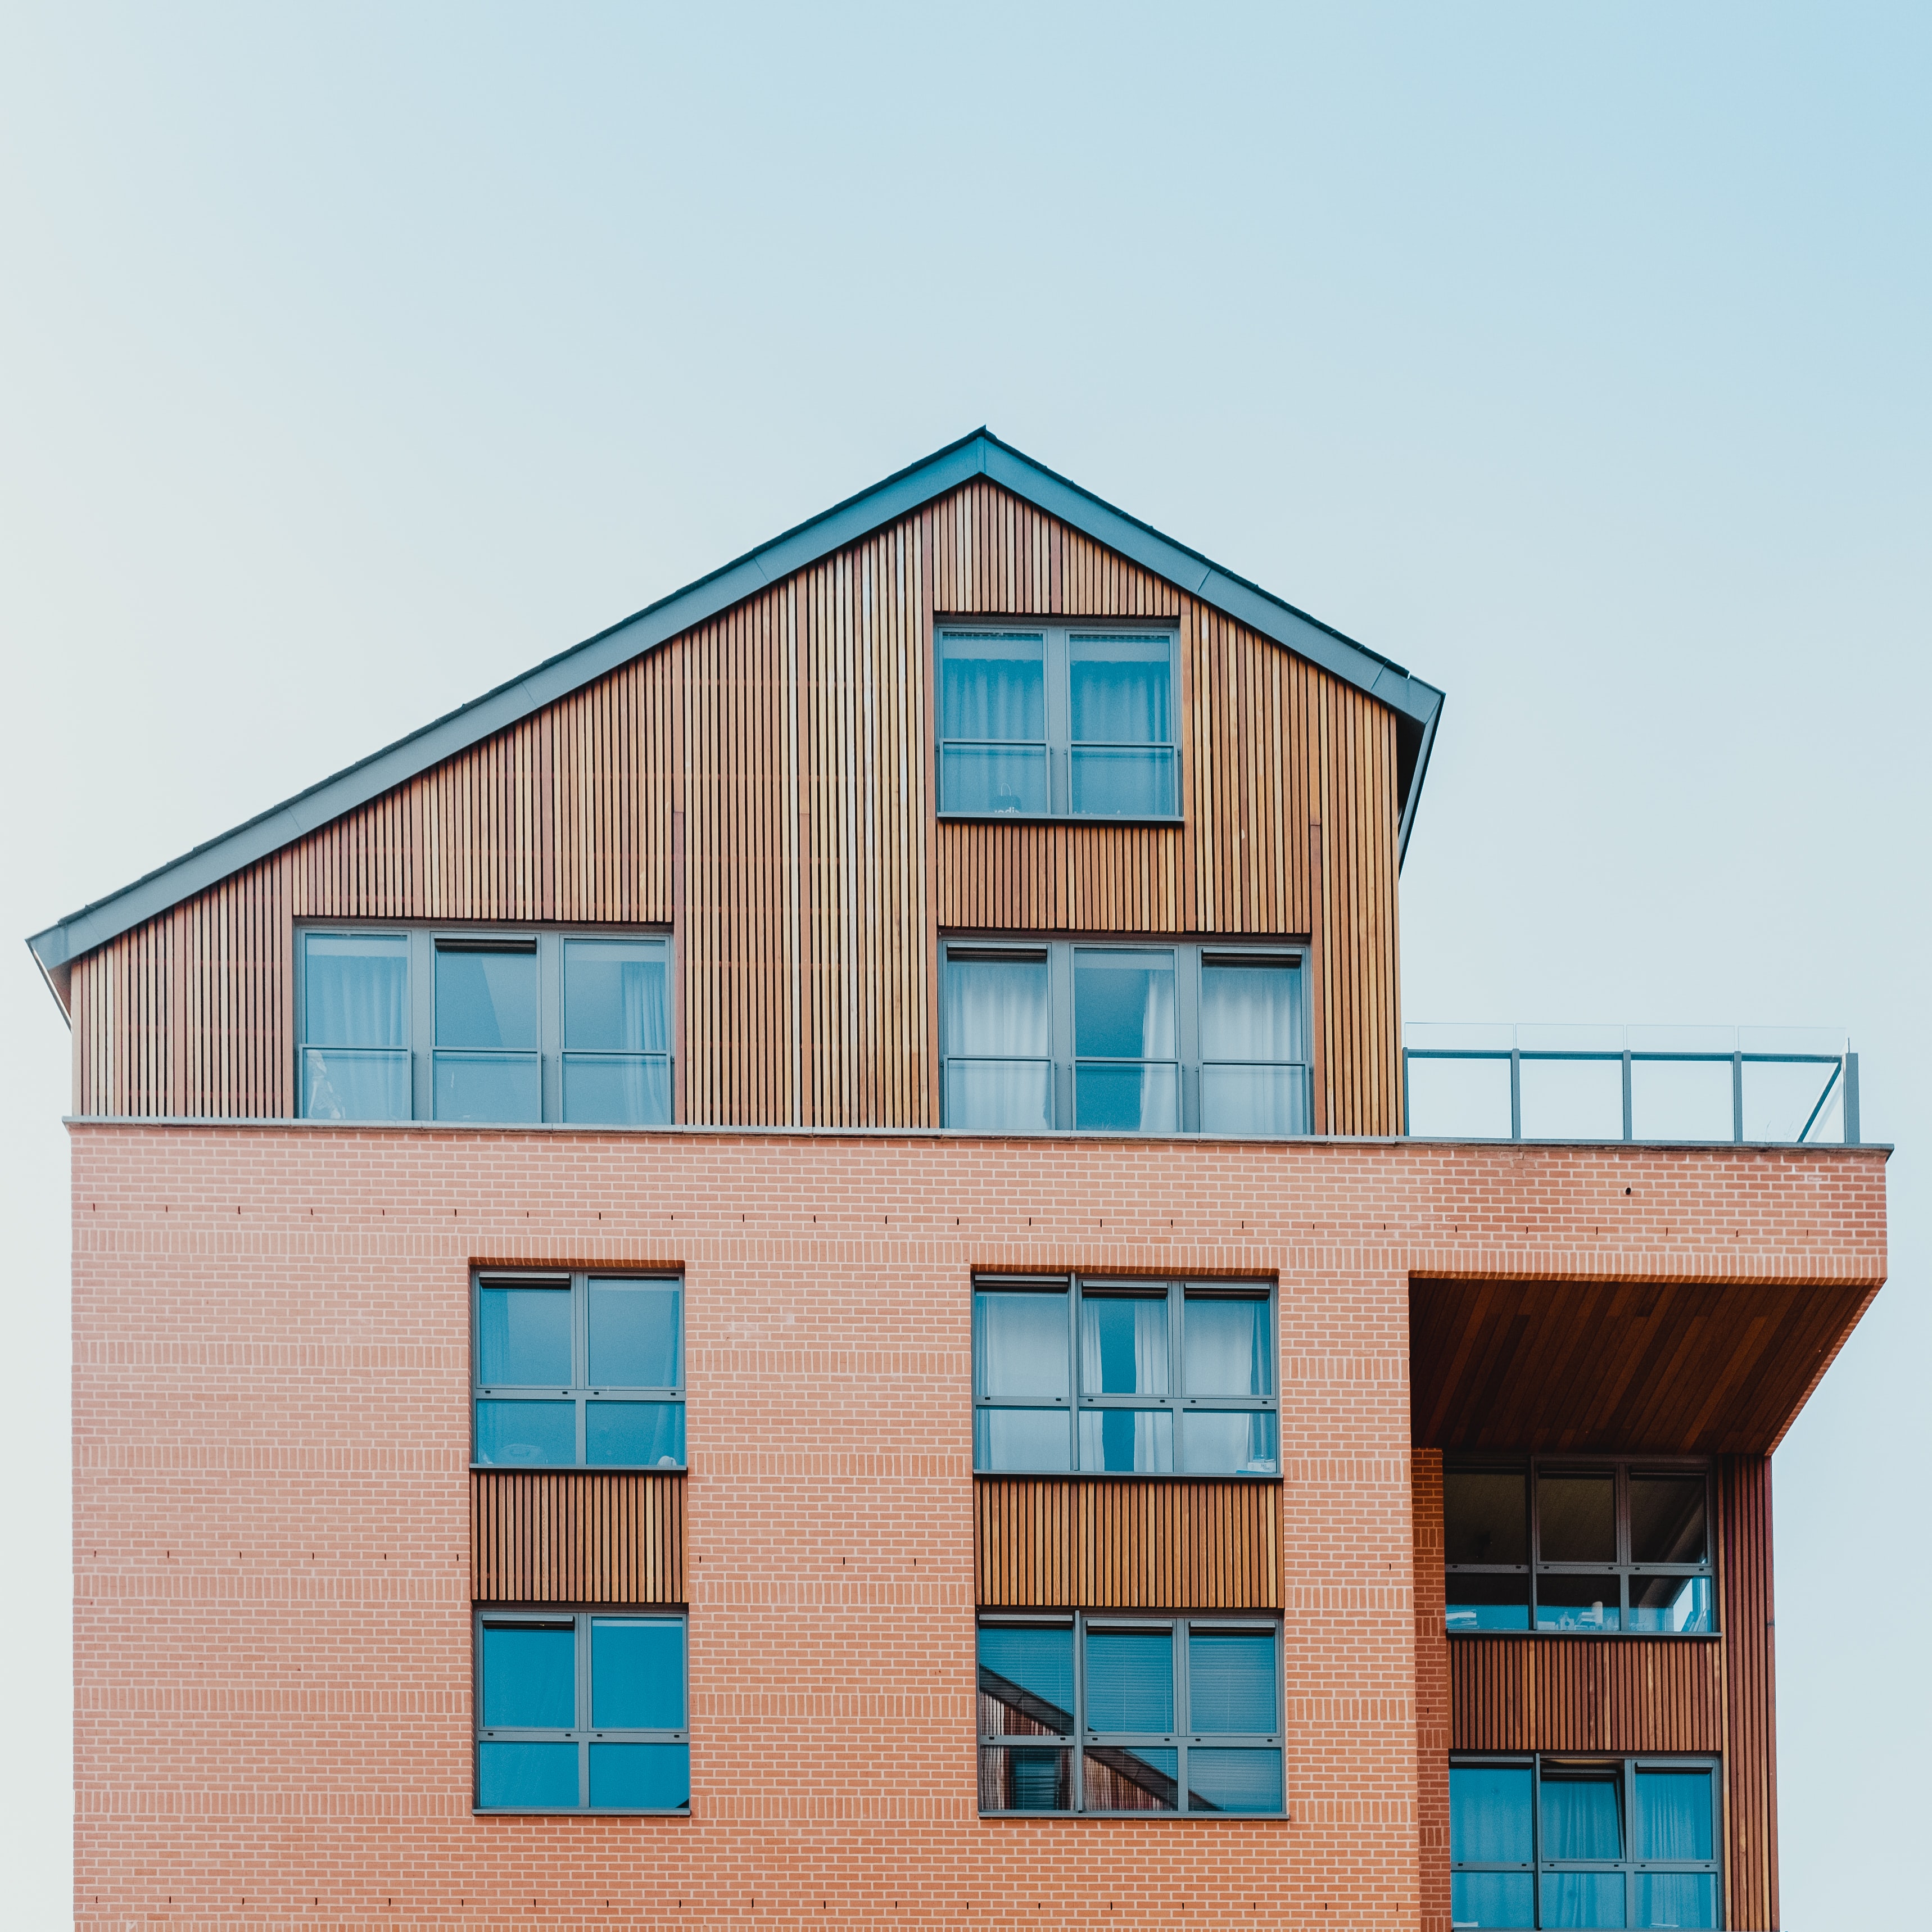
{"label": "narrow vertical wooden slat strip at building's far right edge", "polygon": [[1772,1658],[1772,1463],[1718,1461],[1718,1604],[1725,1644],[1725,1924],[1777,1924],[1777,1687]]}

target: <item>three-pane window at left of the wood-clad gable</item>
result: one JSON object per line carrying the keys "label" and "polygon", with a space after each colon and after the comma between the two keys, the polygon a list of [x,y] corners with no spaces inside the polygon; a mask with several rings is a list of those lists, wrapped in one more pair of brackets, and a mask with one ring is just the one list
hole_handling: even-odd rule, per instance
{"label": "three-pane window at left of the wood-clad gable", "polygon": [[311,1121],[670,1119],[670,941],[305,931]]}

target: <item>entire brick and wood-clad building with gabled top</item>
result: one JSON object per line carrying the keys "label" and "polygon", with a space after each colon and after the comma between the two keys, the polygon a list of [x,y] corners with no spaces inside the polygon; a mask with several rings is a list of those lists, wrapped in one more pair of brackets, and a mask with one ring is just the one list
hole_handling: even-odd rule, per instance
{"label": "entire brick and wood-clad building with gabled top", "polygon": [[1776,1926],[1886,1153],[1408,1136],[1439,715],[980,433],[39,933],[79,1922]]}

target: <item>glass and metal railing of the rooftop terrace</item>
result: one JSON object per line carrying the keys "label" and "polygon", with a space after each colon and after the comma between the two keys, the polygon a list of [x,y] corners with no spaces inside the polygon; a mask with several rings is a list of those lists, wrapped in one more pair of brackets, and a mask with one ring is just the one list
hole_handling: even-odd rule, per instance
{"label": "glass and metal railing of the rooftop terrace", "polygon": [[1424,1140],[1859,1144],[1859,1055],[1806,1028],[1418,1020],[1403,1082]]}

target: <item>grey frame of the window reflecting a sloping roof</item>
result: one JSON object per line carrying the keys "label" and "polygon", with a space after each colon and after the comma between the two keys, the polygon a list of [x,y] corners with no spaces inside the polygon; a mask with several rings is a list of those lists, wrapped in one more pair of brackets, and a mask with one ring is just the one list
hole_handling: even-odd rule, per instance
{"label": "grey frame of the window reflecting a sloping roof", "polygon": [[[1001,1735],[980,1729],[980,1633],[1012,1629],[1055,1629],[1070,1631],[1074,1646],[1074,1708],[1070,1727],[1063,1737],[1051,1735]],[[1173,1642],[1173,1731],[1095,1731],[1088,1727],[1086,1716],[1086,1638],[1092,1631],[1169,1631]],[[1188,1636],[1196,1631],[1227,1631],[1231,1634],[1267,1634],[1275,1650],[1275,1727],[1271,1731],[1194,1731],[1186,1721],[1194,1716]],[[1289,1760],[1287,1760],[1287,1683],[1283,1681],[1283,1640],[1281,1617],[1258,1615],[1254,1611],[1225,1611],[1194,1615],[1188,1611],[1146,1611],[1146,1609],[1063,1609],[1063,1611],[1007,1611],[981,1609],[974,1617],[974,1766],[976,1774],[985,1764],[987,1750],[1010,1750],[1014,1747],[1063,1750],[1068,1754],[1068,1791],[1072,1806],[1066,1810],[989,1810],[980,1806],[981,1818],[1285,1818],[1289,1812]],[[1105,1810],[1088,1808],[1084,1758],[1088,1748],[1099,1750],[1175,1750],[1177,1806],[1173,1810]],[[1194,1810],[1188,1806],[1188,1752],[1190,1750],[1275,1750],[1281,1756],[1281,1808],[1279,1810]],[[985,1791],[985,1785],[980,1785]]]}

